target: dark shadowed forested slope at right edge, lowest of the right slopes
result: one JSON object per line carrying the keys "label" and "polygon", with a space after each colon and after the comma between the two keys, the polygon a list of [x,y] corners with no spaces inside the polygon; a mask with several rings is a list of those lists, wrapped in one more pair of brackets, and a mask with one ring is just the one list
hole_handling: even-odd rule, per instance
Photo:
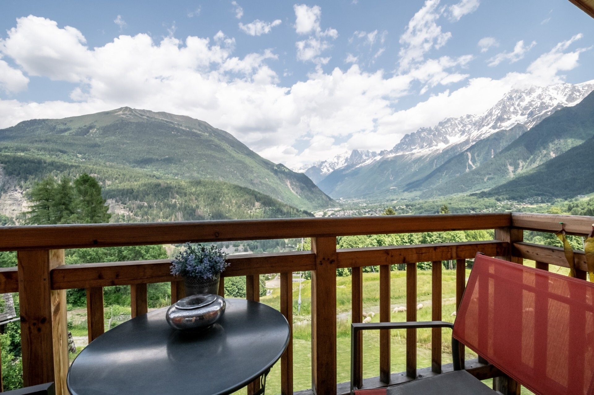
{"label": "dark shadowed forested slope at right edge, lowest of the right slopes", "polygon": [[594,192],[594,137],[532,171],[479,196],[523,200],[533,196],[574,198]]}

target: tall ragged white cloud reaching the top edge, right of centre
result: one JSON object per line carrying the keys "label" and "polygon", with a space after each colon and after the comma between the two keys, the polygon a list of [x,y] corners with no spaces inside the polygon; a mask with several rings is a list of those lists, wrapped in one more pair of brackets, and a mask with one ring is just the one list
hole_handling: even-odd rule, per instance
{"label": "tall ragged white cloud reaching the top edge, right of centre", "polygon": [[423,60],[425,53],[439,49],[450,39],[450,32],[441,31],[437,25],[442,9],[439,0],[426,0],[425,4],[410,19],[405,33],[400,36],[400,71],[407,71],[414,62]]}

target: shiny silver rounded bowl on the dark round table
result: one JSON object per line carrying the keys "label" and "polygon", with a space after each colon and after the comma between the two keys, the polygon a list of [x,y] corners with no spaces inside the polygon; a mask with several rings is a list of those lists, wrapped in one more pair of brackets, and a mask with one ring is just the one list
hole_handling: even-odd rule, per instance
{"label": "shiny silver rounded bowl on the dark round table", "polygon": [[170,326],[180,330],[204,329],[225,313],[225,299],[219,295],[196,294],[180,299],[167,310]]}

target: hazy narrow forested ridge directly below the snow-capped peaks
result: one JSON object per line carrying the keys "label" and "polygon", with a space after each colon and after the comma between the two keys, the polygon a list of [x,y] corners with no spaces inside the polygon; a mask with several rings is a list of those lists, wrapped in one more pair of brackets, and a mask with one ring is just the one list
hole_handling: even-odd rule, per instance
{"label": "hazy narrow forested ridge directly below the snow-capped peaks", "polygon": [[462,176],[494,158],[502,149],[526,132],[526,127],[516,125],[508,130],[500,130],[447,160],[421,180],[409,183],[405,191],[431,189],[451,179]]}

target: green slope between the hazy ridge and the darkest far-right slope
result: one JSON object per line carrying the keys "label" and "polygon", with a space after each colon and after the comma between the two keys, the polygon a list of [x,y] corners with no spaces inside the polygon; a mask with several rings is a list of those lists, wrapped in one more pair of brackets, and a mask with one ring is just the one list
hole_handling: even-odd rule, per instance
{"label": "green slope between the hazy ridge and the darkest far-right slope", "polygon": [[565,107],[523,133],[481,166],[440,184],[431,196],[478,192],[499,186],[594,136],[594,93]]}

